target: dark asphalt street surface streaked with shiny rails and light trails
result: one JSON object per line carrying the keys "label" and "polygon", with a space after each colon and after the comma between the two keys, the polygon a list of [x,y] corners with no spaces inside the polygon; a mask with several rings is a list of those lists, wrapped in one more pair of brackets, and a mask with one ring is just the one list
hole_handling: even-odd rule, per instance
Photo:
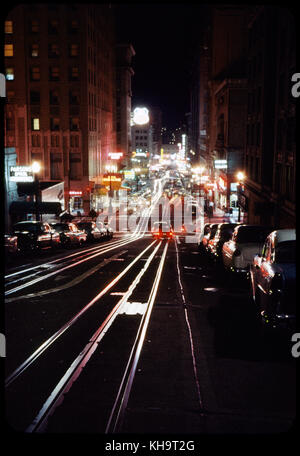
{"label": "dark asphalt street surface streaked with shiny rails and light trails", "polygon": [[277,434],[296,415],[287,334],[184,236],[118,234],[6,270],[6,420],[27,433]]}

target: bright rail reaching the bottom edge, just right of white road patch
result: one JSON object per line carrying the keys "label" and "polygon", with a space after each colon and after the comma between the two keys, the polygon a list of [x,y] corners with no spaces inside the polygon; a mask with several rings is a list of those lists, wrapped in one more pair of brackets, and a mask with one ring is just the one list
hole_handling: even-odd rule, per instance
{"label": "bright rail reaching the bottom edge, just right of white road patch", "polygon": [[125,369],[125,373],[124,373],[122,381],[121,381],[118,395],[115,400],[112,412],[110,414],[110,417],[109,417],[109,420],[108,420],[108,423],[107,423],[107,426],[105,429],[106,434],[115,433],[115,432],[120,431],[122,424],[123,424],[124,414],[125,414],[125,410],[127,407],[127,403],[128,403],[132,383],[134,380],[137,364],[138,364],[138,361],[140,358],[140,354],[142,351],[146,332],[148,329],[154,301],[155,301],[158,287],[160,284],[168,245],[169,245],[169,243],[167,242],[165,245],[157,272],[156,272],[155,279],[153,281],[153,286],[152,286],[152,289],[151,289],[151,292],[149,295],[149,299],[147,302],[146,312],[144,313],[143,318],[141,320],[141,323],[140,323],[140,326],[139,326],[139,329],[137,332],[137,336],[136,336],[135,342],[133,344],[132,351],[130,353],[130,357],[129,357],[129,360],[128,360],[128,363],[127,363],[127,366]]}

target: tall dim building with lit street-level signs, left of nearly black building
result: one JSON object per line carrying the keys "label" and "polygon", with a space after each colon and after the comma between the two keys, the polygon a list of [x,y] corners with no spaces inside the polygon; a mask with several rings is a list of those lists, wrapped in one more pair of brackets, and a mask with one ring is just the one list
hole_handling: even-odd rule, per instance
{"label": "tall dim building with lit street-level signs, left of nearly black building", "polygon": [[240,5],[212,10],[206,135],[209,166],[213,166],[216,181],[215,203],[221,207],[236,205],[236,174],[243,167],[248,16],[249,8]]}

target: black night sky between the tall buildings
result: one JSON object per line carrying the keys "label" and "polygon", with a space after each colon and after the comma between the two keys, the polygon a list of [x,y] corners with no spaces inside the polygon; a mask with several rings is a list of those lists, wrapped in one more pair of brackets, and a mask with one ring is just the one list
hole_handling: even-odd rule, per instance
{"label": "black night sky between the tall buildings", "polygon": [[133,45],[133,107],[158,106],[163,125],[177,127],[189,106],[193,47],[205,21],[197,4],[114,4],[117,38]]}

